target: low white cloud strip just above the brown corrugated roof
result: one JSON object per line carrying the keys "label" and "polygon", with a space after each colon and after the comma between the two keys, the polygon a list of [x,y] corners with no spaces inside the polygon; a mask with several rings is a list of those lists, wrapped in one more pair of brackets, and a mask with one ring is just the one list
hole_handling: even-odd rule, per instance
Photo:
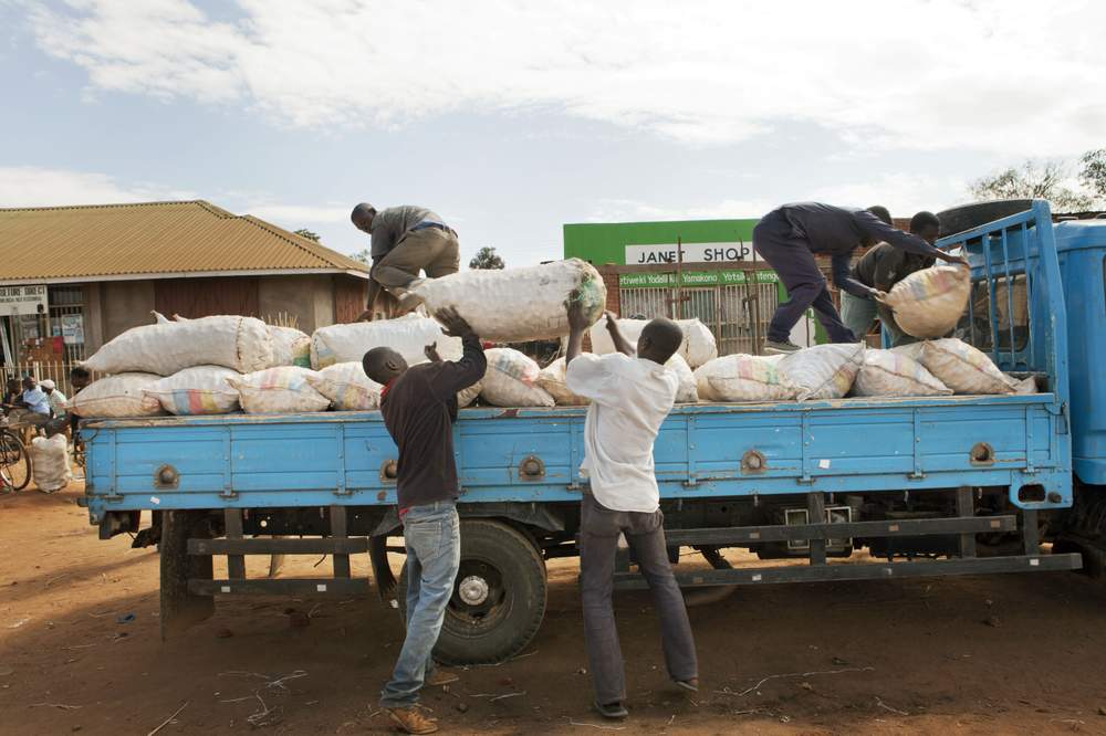
{"label": "low white cloud strip just above the brown corrugated roof", "polygon": [[112,204],[175,199],[196,199],[196,193],[142,182],[125,186],[106,174],[33,166],[0,167],[0,207]]}

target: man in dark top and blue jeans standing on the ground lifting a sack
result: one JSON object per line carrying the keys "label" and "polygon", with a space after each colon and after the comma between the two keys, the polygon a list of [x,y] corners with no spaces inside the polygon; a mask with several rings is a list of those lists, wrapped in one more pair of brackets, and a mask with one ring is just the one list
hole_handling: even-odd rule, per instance
{"label": "man in dark top and blue jeans standing on the ground lifting a sack", "polygon": [[408,734],[438,730],[415,707],[422,685],[458,679],[435,671],[430,652],[461,560],[452,433],[457,392],[483,378],[488,366],[480,338],[457,312],[444,309],[435,316],[447,335],[461,338],[460,360],[408,368],[401,355],[378,347],[362,361],[365,374],[384,386],[380,413],[399,448],[396,496],[407,547],[407,635],[392,680],[380,693],[380,707]]}

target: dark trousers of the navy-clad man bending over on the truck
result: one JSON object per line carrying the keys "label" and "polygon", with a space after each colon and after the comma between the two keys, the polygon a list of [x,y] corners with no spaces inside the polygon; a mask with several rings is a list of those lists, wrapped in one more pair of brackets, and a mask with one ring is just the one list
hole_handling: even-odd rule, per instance
{"label": "dark trousers of the navy-clad man bending over on the truck", "polygon": [[791,224],[780,214],[771,213],[753,228],[753,249],[761,254],[780,276],[787,290],[787,301],[776,307],[769,324],[768,338],[787,341],[791,329],[808,308],[814,314],[832,343],[855,343],[857,337],[837,314],[825,276],[818,270],[810,244],[795,238]]}

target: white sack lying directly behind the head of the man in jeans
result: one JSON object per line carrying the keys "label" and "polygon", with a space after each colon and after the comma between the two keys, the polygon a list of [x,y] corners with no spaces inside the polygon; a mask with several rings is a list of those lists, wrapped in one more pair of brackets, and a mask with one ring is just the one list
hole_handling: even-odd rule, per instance
{"label": "white sack lying directly behind the head of the man in jeans", "polygon": [[414,366],[426,360],[422,350],[431,343],[438,344],[442,360],[457,360],[465,351],[461,338],[446,337],[441,325],[417,314],[397,319],[330,325],[320,327],[311,336],[311,366],[319,370],[336,362],[359,361],[376,347],[389,347]]}

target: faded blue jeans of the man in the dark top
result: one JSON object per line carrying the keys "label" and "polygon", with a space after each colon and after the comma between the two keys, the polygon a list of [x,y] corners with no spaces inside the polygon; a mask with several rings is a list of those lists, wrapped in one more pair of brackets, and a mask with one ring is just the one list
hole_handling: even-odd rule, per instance
{"label": "faded blue jeans of the man in the dark top", "polygon": [[461,564],[461,534],[457,504],[439,501],[413,506],[404,515],[407,546],[407,635],[392,680],[380,691],[380,706],[406,708],[434,670],[430,652],[438,643],[446,606],[453,595]]}

